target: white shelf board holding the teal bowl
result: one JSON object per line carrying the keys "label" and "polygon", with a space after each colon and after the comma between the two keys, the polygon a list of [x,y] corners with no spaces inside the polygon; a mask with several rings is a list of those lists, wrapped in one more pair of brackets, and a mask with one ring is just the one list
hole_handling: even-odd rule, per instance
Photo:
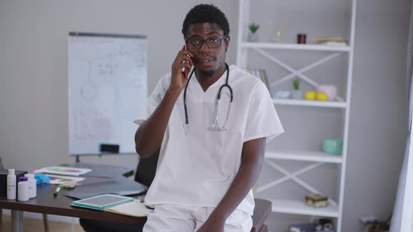
{"label": "white shelf board holding the teal bowl", "polygon": [[341,164],[343,157],[325,154],[324,152],[288,151],[288,152],[265,152],[265,158],[284,159],[294,161],[314,161],[321,163]]}

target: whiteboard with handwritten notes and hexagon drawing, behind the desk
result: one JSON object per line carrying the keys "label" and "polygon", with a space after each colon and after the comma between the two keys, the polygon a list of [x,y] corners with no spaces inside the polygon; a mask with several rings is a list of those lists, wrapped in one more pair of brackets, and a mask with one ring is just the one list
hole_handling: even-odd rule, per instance
{"label": "whiteboard with handwritten notes and hexagon drawing, behind the desk", "polygon": [[101,144],[134,153],[133,123],[147,97],[146,36],[70,32],[69,154]]}

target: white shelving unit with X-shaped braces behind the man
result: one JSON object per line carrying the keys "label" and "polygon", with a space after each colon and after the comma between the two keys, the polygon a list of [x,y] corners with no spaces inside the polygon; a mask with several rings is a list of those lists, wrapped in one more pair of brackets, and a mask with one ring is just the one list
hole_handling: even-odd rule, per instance
{"label": "white shelving unit with X-shaped braces behind the man", "polygon": [[[341,112],[344,114],[344,124],[343,124],[343,134],[342,138],[344,141],[343,152],[341,156],[332,156],[330,154],[325,154],[320,151],[267,151],[265,154],[265,162],[279,171],[284,176],[269,182],[263,186],[258,187],[258,193],[262,191],[267,191],[267,189],[273,188],[283,182],[292,180],[296,184],[300,185],[304,189],[311,191],[314,194],[323,194],[318,189],[312,187],[307,182],[301,180],[298,175],[311,171],[314,168],[318,168],[323,164],[335,164],[339,168],[339,180],[337,180],[338,196],[337,199],[329,199],[329,206],[327,208],[310,208],[304,205],[303,199],[297,199],[296,201],[283,198],[268,198],[272,201],[272,212],[286,213],[291,215],[309,215],[317,217],[331,217],[337,219],[336,231],[342,231],[342,210],[343,210],[343,199],[344,199],[344,183],[346,174],[346,157],[347,157],[347,143],[349,135],[349,113],[350,113],[350,103],[351,103],[351,80],[353,73],[353,44],[354,44],[354,31],[356,22],[356,2],[357,0],[349,0],[351,4],[351,17],[349,22],[350,33],[349,33],[349,45],[342,46],[330,46],[330,45],[313,45],[313,44],[292,44],[292,43],[249,43],[246,42],[248,34],[248,24],[250,23],[250,4],[251,0],[240,0],[239,1],[239,18],[238,18],[238,35],[237,35],[237,65],[241,68],[248,67],[248,52],[253,51],[264,57],[273,61],[276,65],[281,66],[281,68],[290,72],[289,75],[278,78],[275,82],[269,84],[269,87],[275,87],[281,82],[286,80],[291,80],[292,78],[300,78],[307,84],[317,87],[319,84],[314,80],[311,80],[303,73],[309,71],[320,64],[325,63],[330,59],[342,55],[345,53],[348,57],[347,60],[347,81],[345,87],[345,98],[337,97],[337,101],[307,101],[307,100],[294,100],[294,99],[273,99],[274,105],[291,106],[291,107],[315,107],[315,108],[337,108],[342,109]],[[256,4],[254,2],[254,4]],[[322,6],[321,6],[322,7]],[[323,59],[319,59],[313,64],[309,64],[304,68],[296,70],[292,66],[284,63],[277,57],[271,55],[267,50],[295,50],[295,51],[322,51],[327,54]],[[282,118],[281,118],[282,119]],[[297,149],[295,147],[295,149]],[[304,166],[298,171],[290,173],[286,171],[285,168],[277,164],[276,160],[288,160],[288,161],[303,161],[307,162],[308,165]]]}

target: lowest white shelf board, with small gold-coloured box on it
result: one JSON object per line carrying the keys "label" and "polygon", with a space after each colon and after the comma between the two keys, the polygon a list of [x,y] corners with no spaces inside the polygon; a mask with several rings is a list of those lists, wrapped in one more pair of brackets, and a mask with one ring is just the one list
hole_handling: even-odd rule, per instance
{"label": "lowest white shelf board, with small gold-coloured box on it", "polygon": [[328,205],[325,208],[312,208],[304,204],[303,201],[271,199],[272,212],[288,213],[293,215],[311,215],[319,217],[338,217],[338,208]]}

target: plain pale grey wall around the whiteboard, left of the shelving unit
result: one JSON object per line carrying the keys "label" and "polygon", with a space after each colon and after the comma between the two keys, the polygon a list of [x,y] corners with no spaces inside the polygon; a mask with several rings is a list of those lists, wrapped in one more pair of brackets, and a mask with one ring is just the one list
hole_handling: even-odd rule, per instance
{"label": "plain pale grey wall around the whiteboard, left of the shelving unit", "polygon": [[[4,165],[33,171],[74,161],[68,156],[69,31],[147,35],[151,92],[182,48],[186,13],[201,2],[1,0],[0,156]],[[228,61],[234,63],[236,2],[211,2],[227,13],[232,25]],[[137,165],[134,156],[82,160]]]}

